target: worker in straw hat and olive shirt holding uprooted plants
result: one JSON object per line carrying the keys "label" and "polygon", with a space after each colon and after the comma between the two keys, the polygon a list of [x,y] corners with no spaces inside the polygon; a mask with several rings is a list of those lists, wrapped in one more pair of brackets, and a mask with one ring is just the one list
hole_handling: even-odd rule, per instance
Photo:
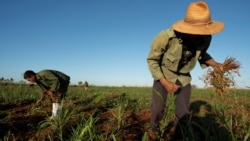
{"label": "worker in straw hat and olive shirt holding uprooted plants", "polygon": [[222,69],[222,65],[207,53],[207,49],[212,35],[221,32],[223,28],[222,22],[212,20],[207,3],[192,2],[183,20],[175,22],[154,38],[147,57],[148,67],[154,78],[150,109],[151,140],[159,134],[159,122],[164,115],[168,94],[175,94],[177,119],[189,114],[190,71],[196,62],[202,68],[212,66]]}

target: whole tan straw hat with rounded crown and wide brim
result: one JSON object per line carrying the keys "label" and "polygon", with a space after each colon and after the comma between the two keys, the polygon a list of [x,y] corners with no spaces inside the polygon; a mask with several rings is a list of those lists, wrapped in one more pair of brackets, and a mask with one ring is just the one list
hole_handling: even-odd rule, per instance
{"label": "whole tan straw hat with rounded crown and wide brim", "polygon": [[224,23],[212,21],[205,2],[193,2],[188,6],[184,20],[174,23],[173,28],[181,33],[211,35],[222,31]]}

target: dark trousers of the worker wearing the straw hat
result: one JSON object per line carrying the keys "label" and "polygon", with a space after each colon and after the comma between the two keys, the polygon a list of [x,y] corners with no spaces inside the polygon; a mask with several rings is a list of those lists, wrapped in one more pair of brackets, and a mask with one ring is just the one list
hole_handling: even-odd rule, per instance
{"label": "dark trousers of the worker wearing the straw hat", "polygon": [[[176,84],[181,85],[177,80]],[[191,85],[188,84],[175,93],[175,115],[182,118],[189,113],[189,102],[191,96]],[[151,119],[152,126],[157,126],[164,116],[168,92],[160,81],[154,81],[151,103]]]}

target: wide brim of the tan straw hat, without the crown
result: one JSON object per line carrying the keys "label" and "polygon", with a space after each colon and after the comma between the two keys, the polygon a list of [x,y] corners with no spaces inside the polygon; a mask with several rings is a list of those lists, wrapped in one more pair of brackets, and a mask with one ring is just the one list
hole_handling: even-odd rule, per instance
{"label": "wide brim of the tan straw hat, without the crown", "polygon": [[221,32],[224,29],[224,23],[212,21],[209,24],[195,25],[180,20],[173,24],[173,29],[187,34],[212,35]]}

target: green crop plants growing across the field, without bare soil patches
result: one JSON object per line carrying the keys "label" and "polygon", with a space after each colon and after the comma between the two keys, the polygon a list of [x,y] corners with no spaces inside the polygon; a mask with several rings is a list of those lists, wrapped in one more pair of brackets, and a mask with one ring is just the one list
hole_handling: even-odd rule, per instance
{"label": "green crop plants growing across the field, without bare soil patches", "polygon": [[[69,87],[67,99],[62,103],[62,113],[57,120],[41,120],[37,125],[27,125],[36,130],[39,136],[45,129],[50,132],[43,140],[70,140],[70,141],[119,141],[119,134],[131,125],[125,123],[125,111],[134,112],[150,108],[151,103],[150,87],[108,87],[92,86],[88,91],[81,87]],[[0,104],[22,105],[39,97],[40,89],[31,88],[28,85],[0,85]],[[250,140],[250,90],[232,89],[226,97],[218,97],[210,89],[194,89],[191,104],[199,102],[198,111],[194,110],[193,119],[188,120],[187,127],[183,127],[182,134],[186,140],[198,140],[197,136],[202,135],[207,141],[248,141]],[[79,101],[79,104],[77,104]],[[174,95],[170,95],[166,105],[166,116],[160,127],[162,133],[166,125],[174,118]],[[44,105],[50,105],[45,101]],[[104,109],[103,109],[104,108]],[[92,109],[91,113],[86,113]],[[202,110],[200,110],[202,109]],[[110,111],[110,118],[105,122],[110,123],[110,129],[106,132],[100,130],[100,114]],[[43,107],[31,106],[26,116],[49,114],[43,111]],[[0,122],[10,121],[14,115],[8,115],[0,119]],[[147,125],[145,125],[147,126]],[[224,132],[221,132],[221,131]],[[197,135],[199,131],[199,135]],[[218,132],[223,134],[218,134]],[[145,141],[147,130],[140,139]],[[162,136],[164,136],[162,134]],[[225,138],[226,137],[226,138]],[[23,140],[12,130],[0,138],[3,141]]]}

